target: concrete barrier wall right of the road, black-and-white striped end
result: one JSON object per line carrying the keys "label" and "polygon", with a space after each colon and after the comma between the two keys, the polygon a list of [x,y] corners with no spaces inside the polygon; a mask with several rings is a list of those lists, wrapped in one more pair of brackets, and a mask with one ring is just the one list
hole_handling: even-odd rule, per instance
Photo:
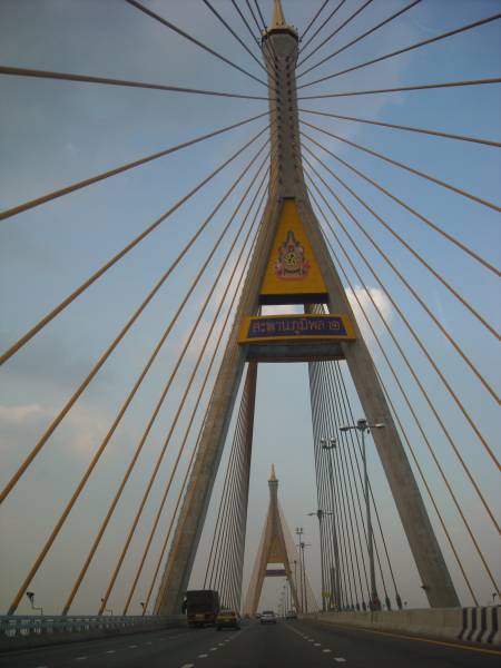
{"label": "concrete barrier wall right of the road, black-and-white striped end", "polygon": [[377,612],[325,612],[303,616],[326,623],[364,627],[482,645],[501,645],[501,607],[425,608]]}

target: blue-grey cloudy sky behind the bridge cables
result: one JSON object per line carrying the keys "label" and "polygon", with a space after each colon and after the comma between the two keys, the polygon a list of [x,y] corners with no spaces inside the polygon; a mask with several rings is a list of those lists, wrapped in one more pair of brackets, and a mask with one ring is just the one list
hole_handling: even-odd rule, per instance
{"label": "blue-grey cloudy sky behind the bridge cables", "polygon": [[[145,0],[145,4],[254,76],[259,78],[265,76],[257,63],[199,0]],[[245,3],[239,2],[239,4],[243,11],[247,12]],[[261,0],[259,4],[265,18],[269,19],[273,4],[271,0]],[[301,35],[322,3],[320,0],[284,0],[283,4],[287,20],[297,27]],[[330,4],[334,7],[334,1]],[[405,4],[403,0],[380,0],[371,3],[307,62],[314,65],[321,57],[346,45]],[[322,37],[327,37],[361,6],[361,0],[348,0],[315,41],[306,47],[304,55],[307,55],[315,45],[320,43]],[[228,0],[215,0],[214,7],[259,58],[257,45],[252,42],[250,35],[232,3]],[[474,2],[423,0],[401,18],[353,48],[346,49],[313,72],[301,77],[298,85],[489,17],[499,11],[499,7],[497,0]],[[249,18],[248,12],[246,16]],[[323,16],[327,16],[327,10]],[[310,35],[312,33],[313,30],[310,31]],[[493,21],[435,45],[323,84],[307,86],[299,89],[299,96],[499,77],[500,37],[500,22]],[[0,65],[266,96],[266,89],[259,82],[209,56],[121,0],[1,0]],[[299,72],[305,67],[306,65],[299,68]],[[299,100],[299,107],[304,110],[355,116],[495,141],[500,141],[501,137],[499,85]],[[245,120],[266,109],[266,100],[206,97],[1,76],[0,208],[3,210],[124,163]],[[493,202],[498,206],[500,204],[501,161],[498,148],[379,128],[348,120],[335,120],[306,111],[302,111],[302,118],[375,151],[389,155],[395,160],[406,163],[477,197]],[[266,128],[266,118],[253,121],[232,132],[2,222],[0,227],[1,350],[13,343],[215,167],[249,141],[259,130]],[[307,127],[303,129],[489,263],[500,265],[499,213],[440,188],[435,184],[425,183],[397,167],[367,156],[333,138],[327,138],[317,130]],[[4,365],[0,385],[2,484],[17,470],[132,311],[168,268],[233,180],[263,146],[265,139],[266,134]],[[416,217],[392,203],[346,167],[340,166],[334,158],[321,151],[310,140],[305,139],[304,144],[345,179],[361,198],[405,238],[412,248],[423,255],[436,272],[443,274],[465,301],[499,330],[501,321],[499,279],[492,272],[480,266],[458,247],[429,229]],[[315,168],[360,218],[369,236],[384,247],[395,266],[458,341],[465,357],[499,392],[501,356],[493,335],[471,313],[468,313],[459,301],[410,255],[409,250],[392,238],[360,203],[336,184],[318,163]],[[1,541],[2,609],[8,608],[19,583],[70,498],[153,347],[250,183],[254,170],[253,167],[249,176],[243,179],[242,185],[224,204],[207,230],[132,326],[6,501],[1,518],[2,536],[7,537]],[[255,188],[250,194],[254,190]],[[394,272],[376,254],[367,238],[356,229],[342,207],[335,204],[325,188],[323,191],[360,244],[362,253],[369,261],[369,267],[373,267],[381,276],[395,302],[415,327],[419,338],[454,387],[459,400],[464,403],[471,419],[479,425],[485,440],[499,455],[501,424],[495,401],[410,295]],[[244,213],[248,205],[247,198],[242,207]],[[257,204],[252,215],[256,208]],[[343,246],[356,264],[364,282],[370,286],[375,302],[387,317],[392,331],[411,363],[418,370],[428,395],[443,416],[466,465],[471,468],[481,484],[488,502],[494,510],[499,510],[499,480],[492,460],[487,455],[456,404],[448,395],[423,353],[411,340],[405,325],[370,268],[356,256],[353,246],[328,209],[325,206],[322,208],[335,226]],[[321,213],[318,218],[323,222]],[[101,518],[132,456],[146,422],[200,311],[208,286],[219,271],[234,238],[233,235],[236,234],[236,225],[240,220],[242,216],[239,218],[237,216],[235,225],[232,226],[228,236],[224,238],[209,263],[173,335],[167,340],[130,411],[127,412],[111,439],[81,500],[72,511],[70,521],[65,525],[51,550],[50,558],[30,586],[36,592],[37,600],[48,612],[59,612],[71,589]],[[337,243],[332,235],[328,238],[334,250],[340,255]],[[73,612],[94,612],[99,606],[99,599],[104,596],[137,504],[143,497],[147,478],[173,422],[178,400],[191,373],[219,298],[223,296],[225,281],[229,278],[242,240],[243,237],[224,271],[223,279],[217,285],[209,307],[204,313],[200,327],[195,334],[186,360],[151,430],[137,470],[126,488],[124,499],[117,508],[105,540],[75,601]],[[244,252],[243,258],[245,256]],[[340,256],[342,257],[342,254]],[[242,259],[242,268],[243,262]],[[474,525],[482,550],[492,568],[498,568],[499,576],[499,546],[495,542],[497,536],[492,524],[489,523],[436,420],[402,363],[395,345],[370,305],[361,281],[345,259],[342,266],[353,282],[355,293],[367,307],[374,327],[387,347],[390,358],[425,424],[453,489],[463,503],[463,511]],[[234,286],[238,272],[239,269]],[[343,283],[345,283],[344,278]],[[228,301],[223,311],[227,308]],[[357,317],[361,315],[356,308],[355,313]],[[217,332],[219,326],[219,324],[216,326]],[[436,473],[423,439],[363,318],[361,326],[419,453],[426,478],[443,509],[451,533],[458,542],[461,559],[469,570],[481,602],[487,603],[491,598],[492,586],[479,564],[471,540],[465,536],[464,527]],[[214,342],[214,338],[212,341]],[[213,355],[213,342],[204,356],[200,372],[196,376],[195,393],[191,393],[186,402],[161,465],[159,479],[153,488],[138,532],[110,597],[108,606],[116,612],[121,610],[129,582],[136,572],[144,542],[149,534],[153,518],[185,433],[190,409],[196,400],[196,391],[200,386],[200,379]],[[216,362],[219,357],[220,351]],[[215,369],[217,363],[214,365]],[[214,370],[210,380],[214,380]],[[208,386],[212,386],[210,382]],[[353,395],[355,415],[361,416],[354,391],[353,389],[350,391]],[[187,458],[195,445],[207,399],[208,393],[205,392],[200,411],[197,413],[194,429],[187,441],[186,455],[181,459],[181,474],[186,470]],[[227,451],[228,448],[225,450],[223,466],[210,503],[208,522],[194,570],[193,587],[202,584],[200,578],[203,578],[207,546],[212,538],[215,512],[219,502],[220,479],[224,474]],[[268,499],[266,481],[272,463],[276,466],[281,504],[289,527],[292,529],[297,525],[304,527],[306,540],[312,544],[307,559],[313,587],[318,595],[318,528],[315,518],[306,517],[307,512],[316,510],[317,501],[305,364],[259,367],[246,579],[253,566],[258,537],[265,520]],[[373,485],[379,492],[377,503],[384,517],[390,553],[402,598],[409,601],[410,607],[423,606],[425,598],[420,589],[421,582],[412,566],[412,558],[381,464],[372,448],[370,448],[369,466]],[[151,554],[134,599],[132,612],[140,611],[139,601],[144,600],[145,592],[149,588],[165,531],[170,521],[179,480],[180,475],[176,478],[168,498],[160,531],[154,541]],[[430,507],[428,499],[426,504]],[[444,544],[436,517],[433,511],[430,512],[462,602],[471,605],[451,551]],[[276,608],[281,588],[282,582],[278,580],[268,582],[262,605]],[[28,605],[23,601],[19,611],[27,612],[28,609]]]}

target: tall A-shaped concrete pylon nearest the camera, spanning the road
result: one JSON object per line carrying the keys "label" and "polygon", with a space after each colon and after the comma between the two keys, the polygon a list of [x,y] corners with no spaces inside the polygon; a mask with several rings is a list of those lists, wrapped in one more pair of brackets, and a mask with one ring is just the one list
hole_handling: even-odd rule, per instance
{"label": "tall A-shaped concrete pylon nearest the camera, spanning the road", "polygon": [[[374,431],[374,442],[423,590],[431,607],[459,607],[371,354],[308,199],[301,158],[295,80],[298,36],[286,23],[279,0],[274,3],[273,22],[262,36],[262,50],[271,92],[268,200],[215,382],[155,610],[160,615],[180,610],[246,363],[316,360],[345,360],[367,422],[385,425]],[[283,230],[285,236],[281,236]],[[291,277],[295,279],[289,281]],[[297,323],[292,316],[283,321],[287,328],[301,326],[301,336],[292,341],[282,336],[283,332],[278,331],[282,325],[258,321],[256,316],[264,304],[303,304],[310,315],[302,322]],[[330,315],[311,315],[315,304],[326,305]],[[313,321],[313,317],[324,320]],[[308,327],[314,336],[308,337]],[[322,336],[318,333],[322,327],[324,331],[332,327],[342,335]]]}

